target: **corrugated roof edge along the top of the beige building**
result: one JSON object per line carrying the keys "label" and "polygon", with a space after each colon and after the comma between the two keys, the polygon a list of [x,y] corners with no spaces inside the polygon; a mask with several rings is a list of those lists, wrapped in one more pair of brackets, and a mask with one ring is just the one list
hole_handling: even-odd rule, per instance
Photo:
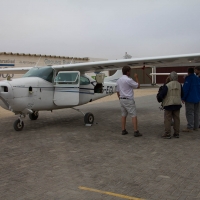
{"label": "corrugated roof edge along the top of the beige building", "polygon": [[0,52],[0,55],[18,55],[18,56],[41,56],[41,57],[52,57],[52,58],[66,58],[74,60],[89,60],[89,57],[69,57],[69,56],[56,56],[56,55],[42,55],[42,54],[30,54],[30,53],[12,53],[12,52]]}

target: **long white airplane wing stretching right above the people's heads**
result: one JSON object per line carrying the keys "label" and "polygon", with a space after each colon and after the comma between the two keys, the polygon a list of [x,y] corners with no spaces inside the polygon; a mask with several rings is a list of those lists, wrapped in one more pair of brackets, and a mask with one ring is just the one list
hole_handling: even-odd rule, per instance
{"label": "long white airplane wing stretching right above the people's heads", "polygon": [[80,72],[100,72],[120,69],[125,65],[131,68],[145,67],[183,67],[183,66],[199,66],[200,53],[183,54],[173,56],[147,57],[147,58],[132,58],[123,60],[109,60],[101,62],[87,62],[68,65],[54,65],[55,70],[73,70]]}

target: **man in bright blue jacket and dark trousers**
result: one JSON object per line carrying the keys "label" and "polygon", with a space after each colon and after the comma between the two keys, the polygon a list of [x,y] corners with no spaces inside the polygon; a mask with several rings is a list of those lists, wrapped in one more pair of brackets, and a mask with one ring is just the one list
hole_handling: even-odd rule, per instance
{"label": "man in bright blue jacket and dark trousers", "polygon": [[199,128],[199,102],[200,102],[200,81],[194,74],[194,68],[188,69],[188,76],[185,77],[183,85],[187,128],[183,132],[192,132]]}

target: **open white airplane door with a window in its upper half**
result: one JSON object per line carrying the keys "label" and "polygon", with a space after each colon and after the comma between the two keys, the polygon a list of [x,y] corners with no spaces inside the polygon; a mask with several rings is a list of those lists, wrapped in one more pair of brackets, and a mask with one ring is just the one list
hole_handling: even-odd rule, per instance
{"label": "open white airplane door with a window in its upper half", "polygon": [[60,71],[55,78],[54,103],[57,106],[79,104],[79,71]]}

